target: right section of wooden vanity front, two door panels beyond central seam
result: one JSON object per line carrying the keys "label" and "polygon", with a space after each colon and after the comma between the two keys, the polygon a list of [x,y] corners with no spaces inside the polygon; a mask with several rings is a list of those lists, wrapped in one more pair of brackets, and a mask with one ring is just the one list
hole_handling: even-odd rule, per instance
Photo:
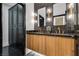
{"label": "right section of wooden vanity front, two door panels beyond central seam", "polygon": [[47,36],[46,55],[48,56],[74,56],[75,40],[70,37]]}

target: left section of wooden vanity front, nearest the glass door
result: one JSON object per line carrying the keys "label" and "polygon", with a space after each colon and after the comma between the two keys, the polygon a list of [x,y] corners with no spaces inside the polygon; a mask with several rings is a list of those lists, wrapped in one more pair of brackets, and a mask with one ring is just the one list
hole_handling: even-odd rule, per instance
{"label": "left section of wooden vanity front, nearest the glass door", "polygon": [[45,41],[45,36],[28,34],[27,48],[45,54]]}

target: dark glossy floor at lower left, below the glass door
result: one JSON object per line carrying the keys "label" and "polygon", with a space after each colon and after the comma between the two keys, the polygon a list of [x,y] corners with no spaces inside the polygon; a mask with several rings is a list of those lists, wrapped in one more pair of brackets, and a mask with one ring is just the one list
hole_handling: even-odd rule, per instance
{"label": "dark glossy floor at lower left, below the glass door", "polygon": [[7,46],[2,48],[2,53],[0,52],[0,56],[23,56],[23,53],[17,48]]}

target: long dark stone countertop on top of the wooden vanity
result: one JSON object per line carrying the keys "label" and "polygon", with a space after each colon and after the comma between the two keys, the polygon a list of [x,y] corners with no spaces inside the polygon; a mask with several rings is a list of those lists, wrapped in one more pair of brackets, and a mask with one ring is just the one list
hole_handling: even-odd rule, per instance
{"label": "long dark stone countertop on top of the wooden vanity", "polygon": [[69,34],[69,33],[66,33],[66,34],[59,34],[59,33],[30,32],[30,31],[28,32],[28,31],[27,31],[27,34],[47,35],[47,36],[62,36],[62,37],[72,37],[72,38],[75,37],[75,34]]}

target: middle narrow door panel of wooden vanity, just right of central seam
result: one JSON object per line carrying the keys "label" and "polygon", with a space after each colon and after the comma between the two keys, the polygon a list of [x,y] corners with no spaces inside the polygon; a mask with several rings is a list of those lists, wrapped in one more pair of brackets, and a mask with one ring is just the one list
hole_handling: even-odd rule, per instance
{"label": "middle narrow door panel of wooden vanity, just right of central seam", "polygon": [[55,56],[56,52],[56,37],[46,36],[46,55]]}

